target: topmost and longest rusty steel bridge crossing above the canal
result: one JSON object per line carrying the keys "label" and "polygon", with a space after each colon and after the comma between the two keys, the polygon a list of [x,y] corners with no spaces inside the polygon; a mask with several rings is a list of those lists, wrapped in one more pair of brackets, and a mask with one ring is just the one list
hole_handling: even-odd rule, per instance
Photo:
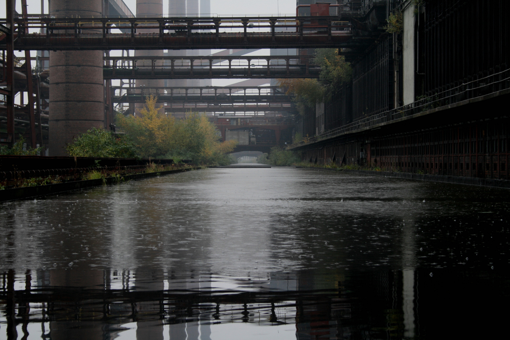
{"label": "topmost and longest rusty steel bridge crossing above the canal", "polygon": [[[337,48],[345,43],[350,47],[363,44],[363,37],[351,39],[350,23],[339,21],[336,16],[47,18],[31,15],[27,19],[17,18],[16,25],[18,50]],[[155,25],[159,33],[149,33]],[[122,33],[119,28],[130,32]],[[26,34],[25,29],[32,32],[45,29],[46,34]],[[276,32],[278,29],[286,31]]]}

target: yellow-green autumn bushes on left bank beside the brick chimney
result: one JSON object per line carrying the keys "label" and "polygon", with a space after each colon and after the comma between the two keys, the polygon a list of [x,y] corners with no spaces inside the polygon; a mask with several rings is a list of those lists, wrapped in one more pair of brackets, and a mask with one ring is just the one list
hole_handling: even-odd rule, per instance
{"label": "yellow-green autumn bushes on left bank beside the brick chimney", "polygon": [[161,113],[157,97],[149,96],[136,116],[117,114],[120,133],[91,129],[67,146],[71,156],[191,160],[195,164],[228,165],[236,141],[221,135],[206,116],[190,113],[175,119]]}

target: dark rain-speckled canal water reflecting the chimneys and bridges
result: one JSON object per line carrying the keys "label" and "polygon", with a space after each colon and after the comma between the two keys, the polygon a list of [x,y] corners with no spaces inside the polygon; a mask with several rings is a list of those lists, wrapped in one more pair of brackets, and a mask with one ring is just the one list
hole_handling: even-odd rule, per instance
{"label": "dark rain-speckled canal water reflecting the chimneys and bridges", "polygon": [[0,339],[506,332],[510,191],[209,169],[0,205]]}

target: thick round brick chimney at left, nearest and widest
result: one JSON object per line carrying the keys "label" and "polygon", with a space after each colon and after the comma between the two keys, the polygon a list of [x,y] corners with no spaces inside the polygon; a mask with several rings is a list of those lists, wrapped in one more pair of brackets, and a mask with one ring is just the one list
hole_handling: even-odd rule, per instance
{"label": "thick round brick chimney at left, nearest and widest", "polygon": [[[101,0],[53,0],[49,13],[91,17],[102,9]],[[49,74],[49,154],[63,156],[73,138],[104,127],[103,51],[51,51]]]}

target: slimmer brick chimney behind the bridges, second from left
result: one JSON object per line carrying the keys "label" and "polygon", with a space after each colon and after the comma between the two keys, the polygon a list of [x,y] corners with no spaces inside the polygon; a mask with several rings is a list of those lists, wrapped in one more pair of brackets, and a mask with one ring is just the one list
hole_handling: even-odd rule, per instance
{"label": "slimmer brick chimney behind the bridges, second from left", "polygon": [[[163,0],[136,0],[136,16],[137,17],[161,17],[163,16]],[[139,33],[159,33],[159,29],[154,30],[139,30]],[[135,57],[163,57],[163,50],[135,50]],[[143,66],[150,66],[151,62],[146,61],[145,63],[139,63]],[[157,65],[162,66],[163,63]],[[136,86],[144,86],[146,88],[151,87],[163,87],[165,81],[162,79],[154,80],[137,80]],[[143,108],[143,104],[136,105],[136,111],[139,112]],[[161,109],[161,113],[164,113],[164,109]]]}

